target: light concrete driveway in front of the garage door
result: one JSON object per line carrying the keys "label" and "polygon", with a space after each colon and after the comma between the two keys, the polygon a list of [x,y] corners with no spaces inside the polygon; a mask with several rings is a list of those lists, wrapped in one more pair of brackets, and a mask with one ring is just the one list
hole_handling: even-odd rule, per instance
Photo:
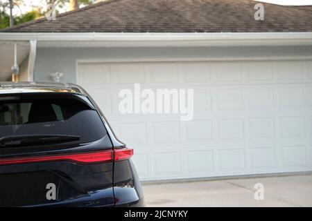
{"label": "light concrete driveway in front of the garage door", "polygon": [[[255,200],[254,184],[264,186]],[[144,184],[147,206],[312,206],[312,175]]]}

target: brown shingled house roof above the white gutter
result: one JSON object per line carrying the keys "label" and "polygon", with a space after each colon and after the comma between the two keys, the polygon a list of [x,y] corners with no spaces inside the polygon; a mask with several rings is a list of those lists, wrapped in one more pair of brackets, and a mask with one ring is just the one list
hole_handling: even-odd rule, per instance
{"label": "brown shingled house roof above the white gutter", "polygon": [[1,32],[312,32],[312,6],[252,0],[108,0]]}

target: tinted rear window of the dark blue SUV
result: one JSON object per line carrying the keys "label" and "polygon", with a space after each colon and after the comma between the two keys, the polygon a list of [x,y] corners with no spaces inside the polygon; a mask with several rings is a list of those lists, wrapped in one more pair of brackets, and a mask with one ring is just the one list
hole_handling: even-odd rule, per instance
{"label": "tinted rear window of the dark blue SUV", "polygon": [[19,135],[73,135],[79,143],[106,135],[94,107],[78,95],[0,96],[0,137]]}

